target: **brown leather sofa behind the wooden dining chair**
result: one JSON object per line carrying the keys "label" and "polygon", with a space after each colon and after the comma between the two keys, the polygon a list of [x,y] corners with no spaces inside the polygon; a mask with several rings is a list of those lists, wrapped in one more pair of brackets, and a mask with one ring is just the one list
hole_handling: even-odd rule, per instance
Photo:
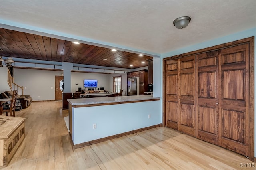
{"label": "brown leather sofa behind the wooden dining chair", "polygon": [[[1,93],[2,98],[12,97],[12,91],[5,91]],[[17,95],[17,99],[20,101],[22,109],[27,108],[32,103],[32,97],[30,95]]]}

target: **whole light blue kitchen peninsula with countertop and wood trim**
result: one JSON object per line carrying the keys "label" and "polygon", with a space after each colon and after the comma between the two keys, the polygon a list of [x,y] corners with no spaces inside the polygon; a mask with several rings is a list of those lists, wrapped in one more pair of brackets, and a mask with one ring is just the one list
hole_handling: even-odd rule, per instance
{"label": "whole light blue kitchen peninsula with countertop and wood trim", "polygon": [[68,99],[73,148],[136,133],[161,123],[153,95]]}

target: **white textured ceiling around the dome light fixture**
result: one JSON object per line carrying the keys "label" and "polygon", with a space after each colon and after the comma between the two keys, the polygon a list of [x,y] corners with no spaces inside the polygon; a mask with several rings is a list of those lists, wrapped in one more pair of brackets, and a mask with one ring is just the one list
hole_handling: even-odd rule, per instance
{"label": "white textured ceiling around the dome light fixture", "polygon": [[[1,0],[1,24],[148,54],[256,27],[256,1]],[[190,24],[172,24],[190,16]],[[39,29],[40,28],[40,29]]]}

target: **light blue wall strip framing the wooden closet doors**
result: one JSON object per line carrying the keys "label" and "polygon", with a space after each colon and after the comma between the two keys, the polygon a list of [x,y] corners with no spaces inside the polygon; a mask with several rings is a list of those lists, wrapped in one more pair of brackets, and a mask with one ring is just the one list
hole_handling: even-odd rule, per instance
{"label": "light blue wall strip framing the wooden closet doors", "polygon": [[[206,41],[206,42],[202,42],[202,43],[198,43],[195,45],[191,45],[189,47],[184,47],[181,49],[177,49],[175,51],[171,51],[169,53],[165,53],[161,55],[161,59],[164,59],[166,57],[171,57],[174,55],[179,55],[179,54],[183,54],[183,53],[187,53],[187,52],[191,52],[191,51],[196,51],[198,49],[204,49],[207,47],[212,47],[214,45],[220,45],[223,43],[227,43],[227,42],[232,42],[232,41],[236,41],[236,40],[241,40],[243,38],[248,38],[248,37],[252,37],[254,36],[254,41],[256,40],[256,28],[250,29],[250,30],[245,30],[242,32],[238,32],[236,34],[230,34],[228,36],[224,36],[221,38],[216,38],[214,40],[210,40],[210,41]],[[256,54],[256,43],[254,42],[254,55]],[[255,56],[254,56],[255,59]],[[161,62],[161,66],[160,69],[163,70],[163,62]],[[254,69],[254,75],[256,75],[256,69]],[[256,84],[255,80],[254,80],[254,84]],[[161,96],[163,94],[163,72],[161,71]],[[256,92],[256,88],[254,86],[254,91]],[[256,99],[256,93],[254,93],[254,99]],[[254,103],[254,107],[255,107],[255,103]],[[161,112],[162,112],[162,108],[161,108]],[[255,115],[256,111],[254,110],[254,115]],[[254,120],[254,127],[256,127],[256,117]],[[256,141],[256,131],[254,130],[254,141]],[[256,142],[254,142],[254,148],[256,149]],[[254,150],[255,153],[255,157],[256,157],[256,150]]]}

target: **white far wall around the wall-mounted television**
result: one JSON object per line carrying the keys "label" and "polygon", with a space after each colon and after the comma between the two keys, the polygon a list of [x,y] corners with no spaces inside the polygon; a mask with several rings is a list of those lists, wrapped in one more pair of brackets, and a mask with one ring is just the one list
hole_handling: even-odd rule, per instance
{"label": "white far wall around the wall-mounted television", "polygon": [[[104,90],[108,91],[112,91],[113,89],[113,87],[110,87],[108,74],[71,72],[71,92],[77,91],[78,87],[88,89],[84,87],[84,79],[98,80],[97,89],[100,87],[104,87]],[[78,85],[76,85],[76,83]]]}

